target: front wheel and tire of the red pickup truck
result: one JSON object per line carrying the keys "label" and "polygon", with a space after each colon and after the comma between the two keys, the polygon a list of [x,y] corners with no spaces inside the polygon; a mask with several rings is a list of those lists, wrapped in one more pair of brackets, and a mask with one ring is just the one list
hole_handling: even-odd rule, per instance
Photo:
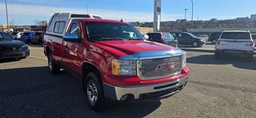
{"label": "front wheel and tire of the red pickup truck", "polygon": [[87,104],[94,111],[101,111],[104,108],[105,98],[100,77],[94,72],[91,72],[86,76],[86,82],[83,84],[86,90]]}

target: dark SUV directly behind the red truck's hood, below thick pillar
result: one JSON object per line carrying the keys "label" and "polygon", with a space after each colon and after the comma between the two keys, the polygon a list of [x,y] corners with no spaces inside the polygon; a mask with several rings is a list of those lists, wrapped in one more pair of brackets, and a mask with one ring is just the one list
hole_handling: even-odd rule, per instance
{"label": "dark SUV directly behind the red truck's hood, below thick pillar", "polygon": [[170,33],[159,32],[146,34],[149,36],[149,41],[155,41],[178,48],[178,41]]}

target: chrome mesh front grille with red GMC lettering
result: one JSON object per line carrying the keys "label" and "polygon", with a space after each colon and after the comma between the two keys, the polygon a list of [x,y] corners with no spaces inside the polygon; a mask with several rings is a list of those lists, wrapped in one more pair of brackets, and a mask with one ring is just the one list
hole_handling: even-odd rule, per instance
{"label": "chrome mesh front grille with red GMC lettering", "polygon": [[182,56],[138,61],[138,77],[142,81],[170,77],[181,70]]}

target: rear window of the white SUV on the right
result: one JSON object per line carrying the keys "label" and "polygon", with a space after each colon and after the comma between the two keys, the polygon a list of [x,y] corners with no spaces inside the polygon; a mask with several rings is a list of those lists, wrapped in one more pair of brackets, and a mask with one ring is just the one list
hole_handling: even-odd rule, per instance
{"label": "rear window of the white SUV on the right", "polygon": [[222,33],[223,39],[250,39],[248,32],[224,32]]}

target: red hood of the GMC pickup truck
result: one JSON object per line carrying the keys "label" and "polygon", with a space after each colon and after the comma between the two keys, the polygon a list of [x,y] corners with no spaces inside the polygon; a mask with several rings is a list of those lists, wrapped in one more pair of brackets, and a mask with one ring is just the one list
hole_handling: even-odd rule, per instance
{"label": "red hood of the GMC pickup truck", "polygon": [[169,45],[153,41],[97,41],[93,45],[117,56],[126,56],[141,51],[171,50],[176,49]]}

